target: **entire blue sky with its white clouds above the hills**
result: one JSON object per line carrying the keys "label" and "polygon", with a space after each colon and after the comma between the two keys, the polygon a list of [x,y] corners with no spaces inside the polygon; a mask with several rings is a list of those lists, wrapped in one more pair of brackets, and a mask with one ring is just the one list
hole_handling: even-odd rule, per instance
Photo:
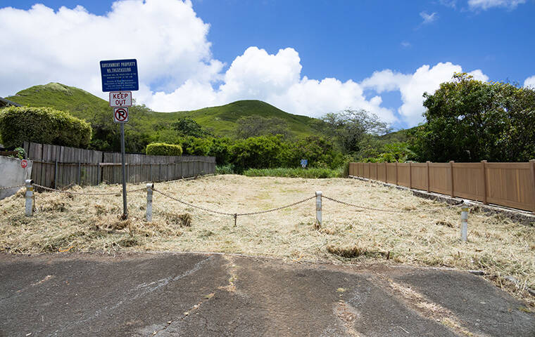
{"label": "entire blue sky with its white clouds above the hills", "polygon": [[58,81],[105,97],[98,61],[137,58],[134,98],[157,111],[260,99],[405,128],[455,71],[535,86],[534,0],[36,2],[0,0],[0,96]]}

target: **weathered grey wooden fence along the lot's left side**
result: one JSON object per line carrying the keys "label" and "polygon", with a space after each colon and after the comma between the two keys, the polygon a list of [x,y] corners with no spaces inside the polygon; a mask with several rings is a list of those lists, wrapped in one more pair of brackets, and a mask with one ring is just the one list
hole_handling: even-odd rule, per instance
{"label": "weathered grey wooden fence along the lot's left side", "polygon": [[[122,183],[120,153],[27,142],[24,150],[33,161],[32,179],[38,185],[57,188]],[[126,154],[125,161],[128,183],[215,173],[215,157]]]}

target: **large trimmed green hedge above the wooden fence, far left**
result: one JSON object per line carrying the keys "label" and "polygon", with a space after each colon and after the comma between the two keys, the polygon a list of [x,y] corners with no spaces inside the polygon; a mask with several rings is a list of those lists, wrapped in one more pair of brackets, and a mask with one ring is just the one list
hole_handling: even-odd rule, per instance
{"label": "large trimmed green hedge above the wooden fence, far left", "polygon": [[91,132],[87,121],[51,107],[6,107],[0,110],[0,134],[8,148],[22,146],[25,140],[87,148]]}

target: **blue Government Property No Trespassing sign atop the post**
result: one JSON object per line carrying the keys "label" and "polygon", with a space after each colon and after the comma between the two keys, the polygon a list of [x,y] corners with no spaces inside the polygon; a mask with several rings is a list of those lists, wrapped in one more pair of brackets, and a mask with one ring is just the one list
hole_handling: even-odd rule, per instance
{"label": "blue Government Property No Trespassing sign atop the post", "polygon": [[101,61],[102,91],[139,90],[137,60]]}

